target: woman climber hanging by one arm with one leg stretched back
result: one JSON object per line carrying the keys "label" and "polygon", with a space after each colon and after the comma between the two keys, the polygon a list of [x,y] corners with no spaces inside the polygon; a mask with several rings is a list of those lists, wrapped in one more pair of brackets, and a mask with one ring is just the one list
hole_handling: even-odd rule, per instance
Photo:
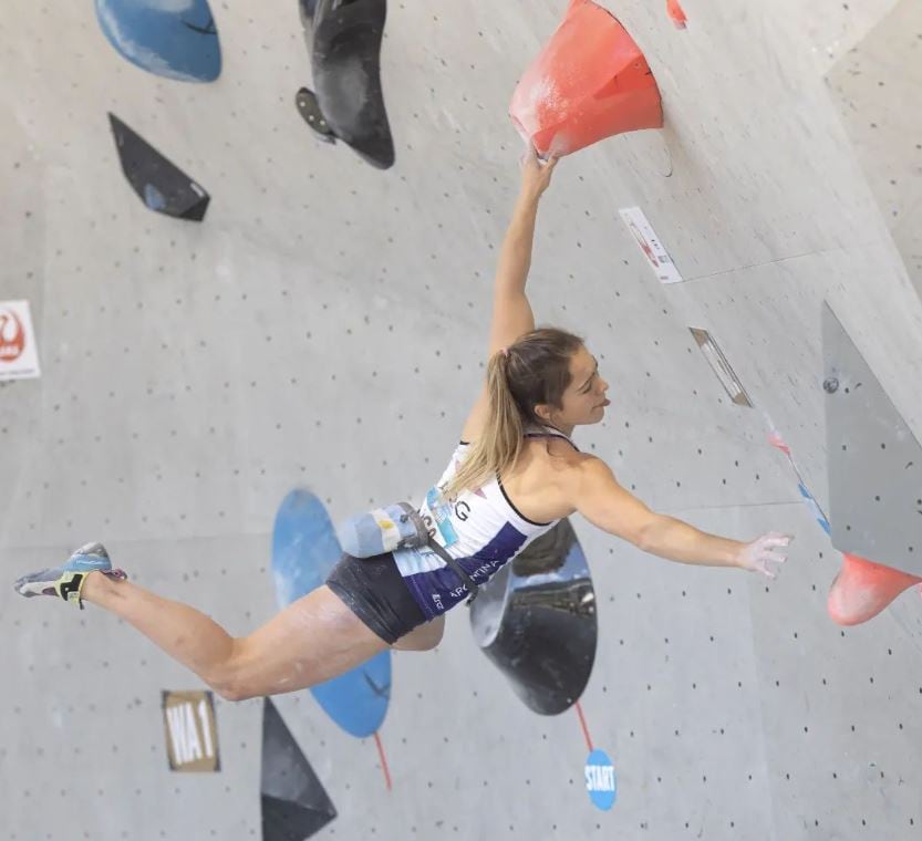
{"label": "woman climber hanging by one arm with one leg stretched back", "polygon": [[[325,584],[240,638],[194,608],[128,582],[100,543],[79,549],[63,567],[21,578],[17,591],[96,604],[224,698],[240,700],[313,686],[389,646],[435,647],[445,612],[472,583],[483,584],[577,511],[645,552],[775,578],[770,564],[785,556],[774,550],[788,536],[743,543],[655,513],[570,440],[574,427],[604,417],[609,384],[582,340],[535,329],[526,297],[538,204],[556,164],[539,160],[533,148],[522,162],[496,272],[486,382],[448,468],[421,507],[441,552],[424,544],[372,558],[344,554]],[[457,563],[447,563],[446,551]]]}

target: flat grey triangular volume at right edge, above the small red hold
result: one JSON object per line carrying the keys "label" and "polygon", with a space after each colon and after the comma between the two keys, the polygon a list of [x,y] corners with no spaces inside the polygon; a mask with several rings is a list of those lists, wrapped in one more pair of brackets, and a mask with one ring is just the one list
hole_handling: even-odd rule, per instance
{"label": "flat grey triangular volume at right edge, above the small red hold", "polygon": [[822,352],[832,544],[922,575],[922,446],[828,303]]}

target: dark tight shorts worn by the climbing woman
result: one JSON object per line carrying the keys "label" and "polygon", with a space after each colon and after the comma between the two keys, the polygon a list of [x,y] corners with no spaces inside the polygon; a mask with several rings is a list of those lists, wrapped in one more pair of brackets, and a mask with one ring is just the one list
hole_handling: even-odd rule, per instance
{"label": "dark tight shorts worn by the climbing woman", "polygon": [[389,645],[426,621],[390,552],[372,558],[343,554],[327,586]]}

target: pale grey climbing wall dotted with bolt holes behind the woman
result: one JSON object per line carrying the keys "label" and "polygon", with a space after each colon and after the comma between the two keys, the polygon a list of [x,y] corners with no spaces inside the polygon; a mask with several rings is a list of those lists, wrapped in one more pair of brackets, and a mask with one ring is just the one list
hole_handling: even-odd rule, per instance
{"label": "pale grey climbing wall dotted with bolt holes behind the woman", "polygon": [[[835,625],[839,554],[767,442],[774,425],[828,509],[823,301],[922,438],[922,302],[823,77],[893,4],[686,0],[685,32],[662,3],[607,6],[666,127],[567,159],[542,206],[533,309],[587,335],[612,383],[578,442],[704,530],[796,532],[791,559],[769,582],[576,519],[599,621],[581,710],[614,761],[613,809],[587,795],[577,713],[528,712],[460,608],[434,652],[394,655],[390,790],[372,739],[307,693],[277,699],[335,807],[317,837],[918,839],[919,593]],[[126,63],[92,3],[10,0],[0,300],[31,302],[43,375],[0,387],[4,581],[103,539],[134,580],[242,635],[274,610],[270,532],[291,487],[334,519],[419,497],[483,373],[516,190],[509,96],[563,7],[392,2],[382,173],[297,113],[294,0],[215,3],[224,66],[201,86]],[[137,200],[110,111],[207,187],[203,224]],[[876,155],[918,166],[922,121],[900,118]],[[633,206],[683,284],[645,264],[619,216]],[[728,399],[690,326],[755,408]],[[100,611],[0,600],[0,838],[260,837],[261,700],[217,703],[220,772],[170,772],[160,692],[197,678]]]}

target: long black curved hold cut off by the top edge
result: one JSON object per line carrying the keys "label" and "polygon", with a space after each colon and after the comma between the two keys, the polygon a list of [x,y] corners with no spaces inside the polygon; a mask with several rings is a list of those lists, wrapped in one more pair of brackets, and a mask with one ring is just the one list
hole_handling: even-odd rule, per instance
{"label": "long black curved hold cut off by the top edge", "polygon": [[[394,141],[381,87],[386,0],[299,0],[308,33],[313,94],[298,92],[298,110],[314,131],[351,146],[373,166],[394,165]],[[311,95],[313,102],[310,101]],[[309,118],[313,116],[313,122]]]}

